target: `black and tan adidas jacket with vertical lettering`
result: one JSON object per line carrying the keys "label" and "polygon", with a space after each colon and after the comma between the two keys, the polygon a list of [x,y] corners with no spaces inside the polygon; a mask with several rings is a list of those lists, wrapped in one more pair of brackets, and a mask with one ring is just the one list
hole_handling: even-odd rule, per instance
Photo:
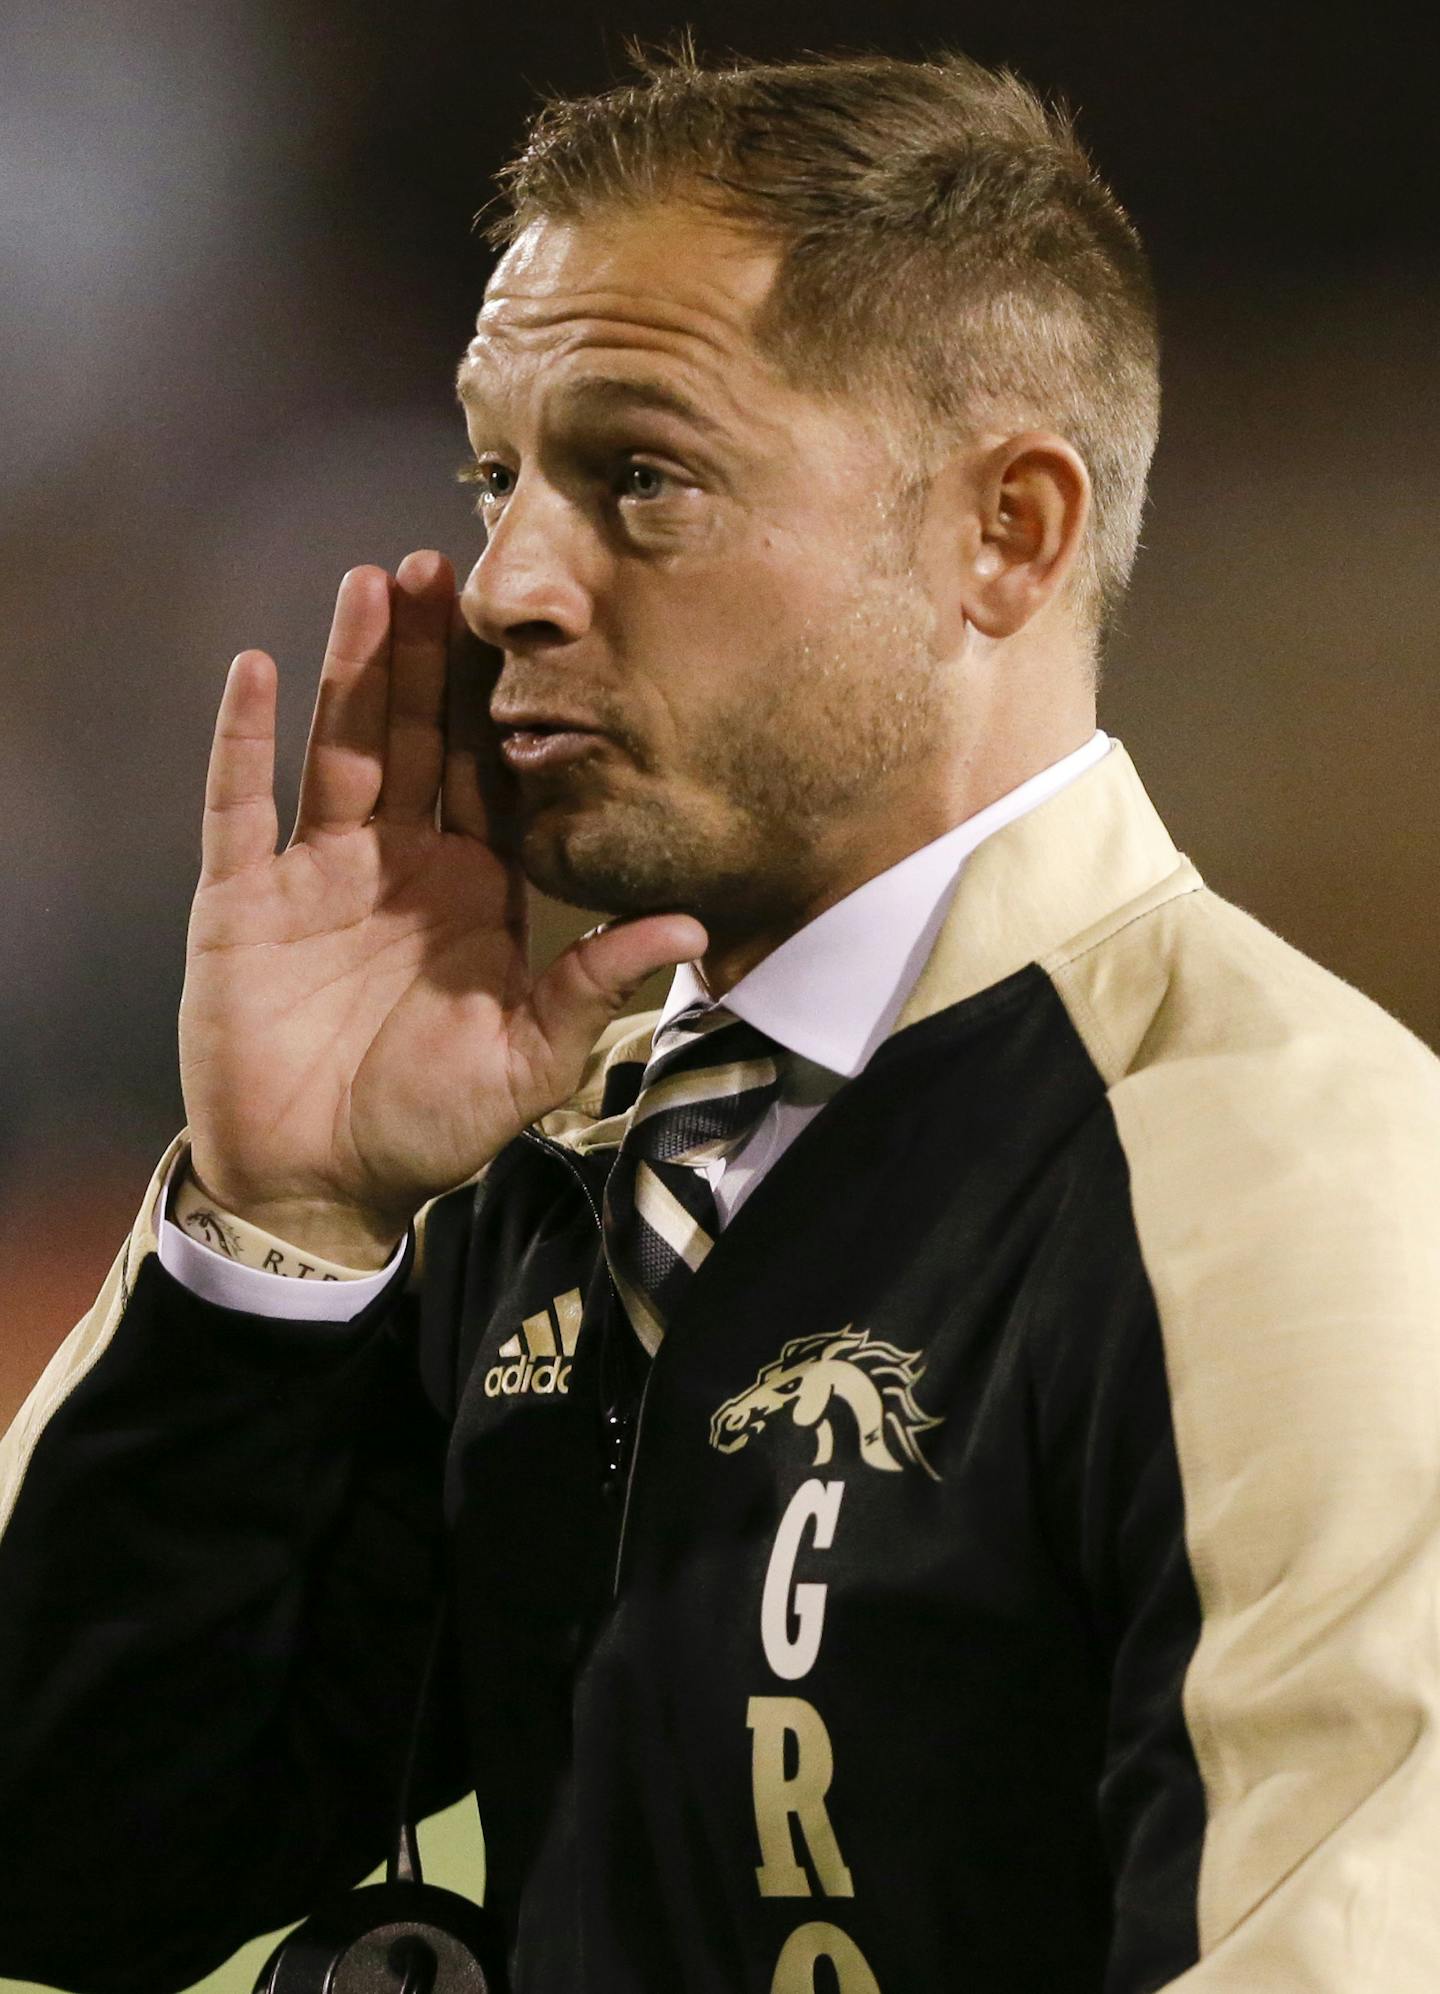
{"label": "black and tan adidas jacket with vertical lettering", "polygon": [[445,1591],[423,1805],[475,1785],[519,1994],[1440,1984],[1404,1876],[1336,1926],[1356,1795],[1436,1819],[1390,1785],[1434,1661],[1386,1661],[1430,1055],[1117,750],[971,857],[650,1362],[596,1216],[646,1041],[349,1326],[197,1302],[142,1220],[10,1440],[0,1968],[158,1994],[363,1874]]}

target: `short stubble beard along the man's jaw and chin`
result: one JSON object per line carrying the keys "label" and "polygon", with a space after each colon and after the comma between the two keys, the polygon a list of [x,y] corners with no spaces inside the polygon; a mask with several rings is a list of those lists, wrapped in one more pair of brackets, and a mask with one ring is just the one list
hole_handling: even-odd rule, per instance
{"label": "short stubble beard along the man's jaw and chin", "polygon": [[872,572],[710,708],[684,784],[640,772],[584,808],[523,798],[521,863],[542,893],[608,915],[678,909],[730,931],[784,921],[824,889],[836,828],[937,750],[947,702],[931,606],[907,574]]}

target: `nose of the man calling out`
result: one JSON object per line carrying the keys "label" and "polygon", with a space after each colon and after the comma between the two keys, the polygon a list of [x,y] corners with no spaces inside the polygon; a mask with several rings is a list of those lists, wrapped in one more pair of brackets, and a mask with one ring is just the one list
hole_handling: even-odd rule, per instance
{"label": "nose of the man calling out", "polygon": [[475,636],[535,650],[584,636],[594,612],[584,522],[562,493],[525,479],[487,520],[485,548],[461,590]]}

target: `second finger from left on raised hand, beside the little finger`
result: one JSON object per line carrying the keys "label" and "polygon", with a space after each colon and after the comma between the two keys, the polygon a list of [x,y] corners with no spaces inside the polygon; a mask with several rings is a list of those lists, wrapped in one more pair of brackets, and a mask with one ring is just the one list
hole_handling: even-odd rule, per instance
{"label": "second finger from left on raised hand, beside the little finger", "polygon": [[389,654],[391,578],[383,568],[351,568],[325,644],[295,837],[353,830],[373,816],[385,770]]}

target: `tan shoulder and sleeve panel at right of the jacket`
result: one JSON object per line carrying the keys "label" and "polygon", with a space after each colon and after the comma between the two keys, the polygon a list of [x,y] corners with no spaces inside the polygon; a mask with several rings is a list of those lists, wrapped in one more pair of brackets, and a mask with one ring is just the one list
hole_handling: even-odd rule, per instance
{"label": "tan shoulder and sleeve panel at right of the jacket", "polygon": [[1201,1593],[1175,1986],[1440,1988],[1440,1063],[1209,891],[1047,969],[1129,1161]]}

